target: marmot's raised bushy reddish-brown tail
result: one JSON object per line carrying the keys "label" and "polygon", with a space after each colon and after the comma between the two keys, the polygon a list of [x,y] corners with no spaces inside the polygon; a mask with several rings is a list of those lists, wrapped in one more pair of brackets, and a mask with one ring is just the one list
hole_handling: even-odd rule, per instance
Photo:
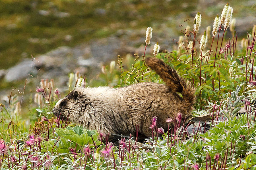
{"label": "marmot's raised bushy reddish-brown tail", "polygon": [[192,106],[195,103],[195,89],[189,87],[188,82],[178,75],[175,69],[157,58],[146,58],[146,65],[166,82],[172,92],[179,92],[183,96],[183,102]]}

